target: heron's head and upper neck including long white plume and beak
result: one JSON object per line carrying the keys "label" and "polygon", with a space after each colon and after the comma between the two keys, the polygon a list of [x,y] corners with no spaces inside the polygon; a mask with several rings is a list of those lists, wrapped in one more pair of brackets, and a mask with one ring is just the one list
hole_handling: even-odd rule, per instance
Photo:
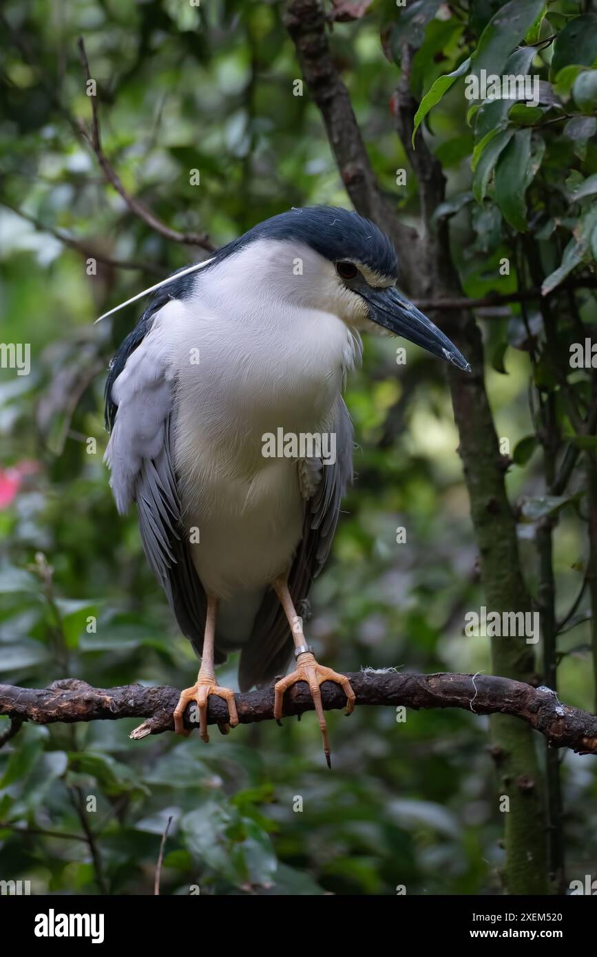
{"label": "heron's head and upper neck including long white plume and beak", "polygon": [[[396,288],[397,258],[392,243],[374,223],[338,207],[315,206],[281,212],[223,246],[213,256],[180,270],[100,316],[111,316],[147,293],[156,303],[185,298],[197,274],[202,298],[221,307],[229,300],[238,314],[261,321],[269,301],[272,314],[283,303],[312,313],[337,316],[350,329],[403,336],[454,366],[471,367],[446,335]],[[282,309],[283,311],[283,309]]]}

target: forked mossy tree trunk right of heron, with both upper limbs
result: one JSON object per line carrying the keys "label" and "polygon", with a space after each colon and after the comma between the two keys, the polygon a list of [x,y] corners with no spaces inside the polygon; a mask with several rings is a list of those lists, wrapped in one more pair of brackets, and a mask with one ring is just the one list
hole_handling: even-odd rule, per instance
{"label": "forked mossy tree trunk right of heron, with both upper limbs", "polygon": [[[381,193],[368,162],[348,93],[330,55],[320,0],[290,0],[285,22],[356,210],[370,216],[389,234],[405,260],[401,284],[418,300],[461,299],[462,288],[450,250],[449,222],[445,217],[436,217],[445,198],[446,180],[421,129],[417,132],[416,149],[410,143],[418,105],[409,89],[413,51],[403,48],[403,72],[394,98],[397,132],[417,177],[421,201],[420,234],[410,229],[405,234],[394,204]],[[350,165],[352,157],[357,161],[356,178]],[[448,379],[487,604],[493,608],[527,611],[531,600],[522,578],[516,523],[506,495],[503,457],[499,455],[498,436],[484,385],[480,331],[468,301],[452,315],[454,320],[447,331],[473,367],[473,373],[465,376],[451,366]],[[529,646],[521,640],[506,645],[494,640],[492,659],[496,671],[515,680],[527,679],[534,664]],[[500,787],[511,799],[512,812],[506,815],[505,822],[506,885],[512,894],[544,894],[547,890],[544,813],[540,770],[530,731],[523,723],[504,718],[502,714],[496,715],[492,723]],[[524,792],[517,786],[522,778],[529,783]]]}

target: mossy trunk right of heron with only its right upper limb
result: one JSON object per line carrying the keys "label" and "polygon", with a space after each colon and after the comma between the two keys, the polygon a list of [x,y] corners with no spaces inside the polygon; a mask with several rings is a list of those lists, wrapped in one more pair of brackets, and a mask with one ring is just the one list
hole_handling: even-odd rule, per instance
{"label": "mossy trunk right of heron with only its right upper limb", "polygon": [[[422,246],[416,274],[418,296],[460,298],[462,287],[453,262],[450,224],[435,213],[445,199],[446,177],[431,153],[421,127],[411,145],[417,102],[412,97],[409,71],[413,51],[402,50],[402,76],[394,99],[396,129],[417,177],[422,213]],[[431,319],[436,318],[431,313]],[[473,313],[463,308],[442,327],[467,357],[473,372],[463,375],[455,367],[447,369],[452,392],[454,420],[460,444],[464,477],[471,501],[471,516],[479,550],[479,569],[485,600],[489,608],[530,612],[531,596],[520,564],[516,520],[508,500],[503,457],[499,453],[498,434],[484,380],[483,342]],[[532,646],[523,638],[491,641],[492,668],[504,677],[526,681],[533,673]],[[542,804],[542,770],[529,728],[512,718],[496,714],[492,718],[493,752],[496,756],[500,793],[510,798],[510,813],[505,814],[505,884],[510,894],[546,894],[547,857],[546,819]],[[522,791],[522,778],[532,787]]]}

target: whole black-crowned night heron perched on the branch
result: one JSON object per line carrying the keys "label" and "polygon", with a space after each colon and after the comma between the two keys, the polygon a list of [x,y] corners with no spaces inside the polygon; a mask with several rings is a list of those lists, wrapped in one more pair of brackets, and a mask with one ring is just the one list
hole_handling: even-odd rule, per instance
{"label": "whole black-crowned night heron perched on the branch", "polygon": [[[110,363],[105,461],[119,513],[136,504],[144,553],[183,634],[201,657],[174,729],[196,706],[234,692],[215,666],[240,651],[241,692],[306,681],[331,767],[321,683],[338,683],[303,631],[352,481],[353,427],[343,401],[364,332],[401,336],[469,371],[455,345],[398,289],[396,251],[355,211],[280,212],[174,273],[153,292]],[[104,317],[100,317],[104,318]],[[294,653],[295,667],[286,674]],[[279,678],[279,676],[285,676]]]}

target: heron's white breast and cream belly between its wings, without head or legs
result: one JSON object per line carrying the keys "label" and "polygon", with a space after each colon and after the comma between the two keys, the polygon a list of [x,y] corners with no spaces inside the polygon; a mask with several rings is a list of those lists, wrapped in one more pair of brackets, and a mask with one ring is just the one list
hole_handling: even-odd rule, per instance
{"label": "heron's white breast and cream belly between its wings, without head or legs", "polygon": [[297,462],[264,457],[263,435],[327,431],[354,361],[340,319],[279,302],[250,286],[219,296],[210,275],[168,328],[184,521],[204,587],[224,598],[287,570],[300,538]]}

